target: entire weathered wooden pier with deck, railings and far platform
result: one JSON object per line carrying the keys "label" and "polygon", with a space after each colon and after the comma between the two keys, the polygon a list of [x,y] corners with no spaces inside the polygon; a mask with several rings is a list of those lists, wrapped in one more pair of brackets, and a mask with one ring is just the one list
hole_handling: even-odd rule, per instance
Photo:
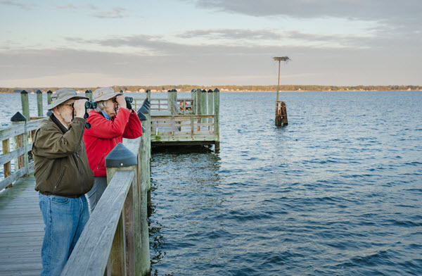
{"label": "entire weathered wooden pier with deck, railings and far platform", "polygon": [[[151,99],[151,92],[147,92],[151,106],[146,111],[146,120],[141,122],[144,134],[138,139],[124,139],[120,145],[123,151],[119,151],[119,156],[124,159],[132,154],[133,158],[129,158],[132,163],[127,163],[126,158],[119,168],[108,166],[108,187],[62,275],[148,275],[151,271],[147,222],[151,146],[215,144],[218,150],[219,92],[216,90],[198,89],[191,93],[193,99],[177,99],[174,92],[169,92],[167,99]],[[27,94],[21,95],[23,113],[30,118]],[[51,93],[48,95],[51,101]],[[205,96],[207,103],[197,101]],[[37,95],[37,99],[41,97]],[[135,99],[134,108],[139,107],[139,101]],[[0,179],[0,276],[39,275],[44,222],[38,193],[34,191],[30,151],[34,130],[43,120],[42,110],[38,108],[38,117],[30,120],[20,113],[14,117],[11,127],[0,130],[0,165],[4,168],[4,178]]]}

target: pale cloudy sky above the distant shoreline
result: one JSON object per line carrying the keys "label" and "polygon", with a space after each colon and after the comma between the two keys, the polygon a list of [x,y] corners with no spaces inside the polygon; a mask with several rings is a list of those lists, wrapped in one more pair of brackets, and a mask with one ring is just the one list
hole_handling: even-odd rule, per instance
{"label": "pale cloudy sky above the distant shoreline", "polygon": [[0,87],[422,85],[422,0],[0,0]]}

